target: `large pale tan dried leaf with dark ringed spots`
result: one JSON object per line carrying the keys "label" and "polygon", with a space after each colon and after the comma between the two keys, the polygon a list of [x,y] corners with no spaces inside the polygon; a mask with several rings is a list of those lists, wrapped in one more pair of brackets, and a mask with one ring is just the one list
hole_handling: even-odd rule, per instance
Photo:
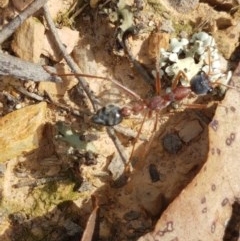
{"label": "large pale tan dried leaf with dark ringed spots", "polygon": [[240,198],[239,102],[239,92],[228,90],[209,126],[207,162],[139,241],[223,239],[232,204]]}

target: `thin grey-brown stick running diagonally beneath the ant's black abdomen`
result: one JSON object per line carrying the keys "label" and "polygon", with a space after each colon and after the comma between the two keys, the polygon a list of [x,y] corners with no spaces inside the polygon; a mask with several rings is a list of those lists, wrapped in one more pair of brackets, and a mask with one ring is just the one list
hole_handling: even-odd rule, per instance
{"label": "thin grey-brown stick running diagonally beneath the ant's black abdomen", "polygon": [[[54,40],[59,48],[59,50],[61,51],[61,53],[63,54],[63,58],[66,60],[67,64],[69,65],[69,67],[72,69],[72,71],[74,73],[81,73],[81,70],[79,69],[79,67],[77,66],[77,64],[74,62],[74,60],[69,56],[69,54],[67,53],[64,45],[62,44],[61,40],[59,39],[58,33],[57,33],[57,29],[52,21],[52,18],[50,17],[50,13],[47,7],[47,4],[45,4],[43,6],[43,10],[44,10],[44,16],[46,18],[48,27],[54,37]],[[80,76],[76,76],[76,78],[79,81],[79,85],[81,86],[81,88],[85,91],[85,93],[87,94],[89,100],[91,101],[91,104],[93,106],[94,111],[97,111],[97,107],[96,107],[96,103],[98,103],[96,97],[93,95],[92,91],[89,89],[87,82],[84,80],[84,78],[81,78]],[[127,158],[124,152],[124,149],[120,143],[120,141],[118,140],[118,138],[116,137],[113,128],[111,127],[107,127],[107,133],[109,135],[109,137],[112,139],[120,157],[122,158],[122,160],[127,163]]]}

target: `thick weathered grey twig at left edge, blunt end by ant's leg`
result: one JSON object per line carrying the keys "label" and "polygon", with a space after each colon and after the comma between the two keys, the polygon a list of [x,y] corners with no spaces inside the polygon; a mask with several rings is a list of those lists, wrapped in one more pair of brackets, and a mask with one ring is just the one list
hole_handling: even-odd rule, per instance
{"label": "thick weathered grey twig at left edge, blunt end by ant's leg", "polygon": [[[49,66],[47,68],[56,73],[55,68]],[[35,82],[61,82],[60,77],[49,74],[41,65],[3,53],[0,53],[0,75],[11,75],[21,80],[33,80]]]}

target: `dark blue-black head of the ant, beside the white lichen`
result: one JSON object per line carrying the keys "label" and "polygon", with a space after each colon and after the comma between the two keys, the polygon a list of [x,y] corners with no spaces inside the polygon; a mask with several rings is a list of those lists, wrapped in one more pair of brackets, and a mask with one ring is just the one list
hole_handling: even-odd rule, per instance
{"label": "dark blue-black head of the ant, beside the white lichen", "polygon": [[190,86],[191,90],[197,95],[206,95],[212,93],[213,91],[209,78],[203,71],[191,79]]}

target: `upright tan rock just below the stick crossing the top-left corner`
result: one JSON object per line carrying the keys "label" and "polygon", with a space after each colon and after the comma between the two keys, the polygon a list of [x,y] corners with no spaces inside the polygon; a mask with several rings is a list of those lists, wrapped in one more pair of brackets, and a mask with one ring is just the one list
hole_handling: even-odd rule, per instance
{"label": "upright tan rock just below the stick crossing the top-left corner", "polygon": [[43,46],[44,26],[31,17],[17,29],[12,41],[14,53],[21,59],[38,63]]}

